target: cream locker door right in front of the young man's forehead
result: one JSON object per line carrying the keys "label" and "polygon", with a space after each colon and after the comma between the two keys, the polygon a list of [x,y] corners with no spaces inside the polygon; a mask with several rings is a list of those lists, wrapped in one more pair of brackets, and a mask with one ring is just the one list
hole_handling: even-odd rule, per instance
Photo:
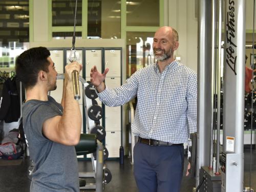
{"label": "cream locker door right in front of the young man's forehead", "polygon": [[57,73],[63,73],[64,65],[64,51],[63,50],[50,50],[50,57],[54,62],[55,69]]}

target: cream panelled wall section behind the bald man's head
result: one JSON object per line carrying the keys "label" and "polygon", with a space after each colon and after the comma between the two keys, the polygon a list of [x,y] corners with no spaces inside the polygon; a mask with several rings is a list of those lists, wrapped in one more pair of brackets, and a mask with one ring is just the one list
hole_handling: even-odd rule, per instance
{"label": "cream panelled wall section behind the bald man's head", "polygon": [[197,18],[195,0],[166,0],[165,25],[179,33],[180,46],[175,55],[183,65],[197,72]]}

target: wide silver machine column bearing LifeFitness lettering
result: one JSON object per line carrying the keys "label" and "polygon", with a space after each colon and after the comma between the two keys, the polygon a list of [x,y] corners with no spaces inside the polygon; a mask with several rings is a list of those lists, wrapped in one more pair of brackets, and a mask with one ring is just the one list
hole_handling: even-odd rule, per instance
{"label": "wide silver machine column bearing LifeFitness lettering", "polygon": [[[225,1],[222,191],[243,191],[245,0]],[[236,177],[234,177],[236,175]]]}

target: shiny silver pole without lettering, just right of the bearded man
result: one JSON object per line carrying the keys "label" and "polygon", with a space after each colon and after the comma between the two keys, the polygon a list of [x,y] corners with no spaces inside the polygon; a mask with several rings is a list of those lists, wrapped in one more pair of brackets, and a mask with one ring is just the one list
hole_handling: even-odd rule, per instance
{"label": "shiny silver pole without lettering, just right of the bearded man", "polygon": [[198,16],[198,99],[197,99],[197,168],[209,166],[211,127],[211,0],[199,0]]}

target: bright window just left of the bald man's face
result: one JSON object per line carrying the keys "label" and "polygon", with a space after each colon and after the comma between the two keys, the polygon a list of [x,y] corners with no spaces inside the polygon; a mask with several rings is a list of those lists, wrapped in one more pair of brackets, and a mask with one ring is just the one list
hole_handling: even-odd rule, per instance
{"label": "bright window just left of the bald man's face", "polygon": [[155,62],[153,53],[154,32],[127,32],[126,77]]}

